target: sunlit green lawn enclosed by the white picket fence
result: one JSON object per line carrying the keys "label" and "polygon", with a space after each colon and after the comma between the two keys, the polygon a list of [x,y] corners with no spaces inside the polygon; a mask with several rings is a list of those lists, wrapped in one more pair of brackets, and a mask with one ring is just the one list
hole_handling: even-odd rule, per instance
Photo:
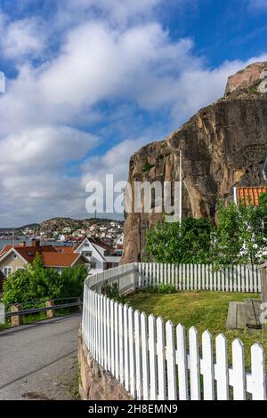
{"label": "sunlit green lawn enclosed by the white picket fence", "polygon": [[[165,321],[171,320],[174,326],[181,323],[188,331],[195,326],[200,336],[206,329],[215,338],[224,334],[228,340],[229,362],[231,364],[231,342],[239,338],[245,346],[246,367],[250,369],[250,347],[255,342],[261,342],[267,350],[267,341],[263,340],[261,330],[251,334],[248,329],[226,329],[226,319],[230,301],[244,301],[247,298],[259,298],[252,293],[220,293],[220,292],[180,292],[173,294],[158,294],[151,292],[135,293],[126,299],[126,303],[140,312],[153,314]],[[267,366],[267,365],[266,365]]]}

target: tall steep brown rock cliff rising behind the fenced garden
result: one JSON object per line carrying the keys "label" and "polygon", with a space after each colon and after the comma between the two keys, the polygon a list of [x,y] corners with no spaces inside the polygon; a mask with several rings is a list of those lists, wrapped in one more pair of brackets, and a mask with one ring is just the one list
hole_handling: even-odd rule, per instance
{"label": "tall steep brown rock cliff rising behind the fenced garden", "polygon": [[[231,76],[223,99],[199,110],[164,141],[136,152],[129,166],[132,187],[134,181],[179,181],[180,150],[183,218],[215,221],[216,202],[230,199],[235,186],[266,184],[267,62]],[[142,259],[145,231],[160,219],[160,213],[126,214],[122,263]]]}

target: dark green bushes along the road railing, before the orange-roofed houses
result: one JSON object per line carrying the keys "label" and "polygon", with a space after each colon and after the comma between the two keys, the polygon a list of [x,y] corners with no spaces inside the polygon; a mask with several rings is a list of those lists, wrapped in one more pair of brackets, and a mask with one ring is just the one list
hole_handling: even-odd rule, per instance
{"label": "dark green bushes along the road railing, before the orange-roofed houses", "polygon": [[54,269],[44,269],[41,255],[37,253],[26,269],[17,270],[4,279],[4,305],[80,297],[87,275],[84,265],[64,269],[61,275]]}

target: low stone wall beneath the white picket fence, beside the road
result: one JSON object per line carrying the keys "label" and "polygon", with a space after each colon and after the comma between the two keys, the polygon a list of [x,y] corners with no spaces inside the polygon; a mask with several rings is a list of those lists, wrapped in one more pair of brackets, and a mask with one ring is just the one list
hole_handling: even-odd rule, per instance
{"label": "low stone wall beneath the white picket fence, beside the road", "polygon": [[78,336],[79,393],[84,400],[133,400],[125,388],[91,356]]}

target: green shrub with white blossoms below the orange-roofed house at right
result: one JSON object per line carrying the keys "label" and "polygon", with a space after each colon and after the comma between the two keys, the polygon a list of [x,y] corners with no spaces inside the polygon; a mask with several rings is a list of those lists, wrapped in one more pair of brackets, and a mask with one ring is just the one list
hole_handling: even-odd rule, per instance
{"label": "green shrub with white blossoms below the orange-roofed house at right", "polygon": [[231,202],[224,207],[220,203],[214,239],[216,264],[257,264],[263,261],[267,247],[264,219],[266,205],[262,200],[259,206]]}

